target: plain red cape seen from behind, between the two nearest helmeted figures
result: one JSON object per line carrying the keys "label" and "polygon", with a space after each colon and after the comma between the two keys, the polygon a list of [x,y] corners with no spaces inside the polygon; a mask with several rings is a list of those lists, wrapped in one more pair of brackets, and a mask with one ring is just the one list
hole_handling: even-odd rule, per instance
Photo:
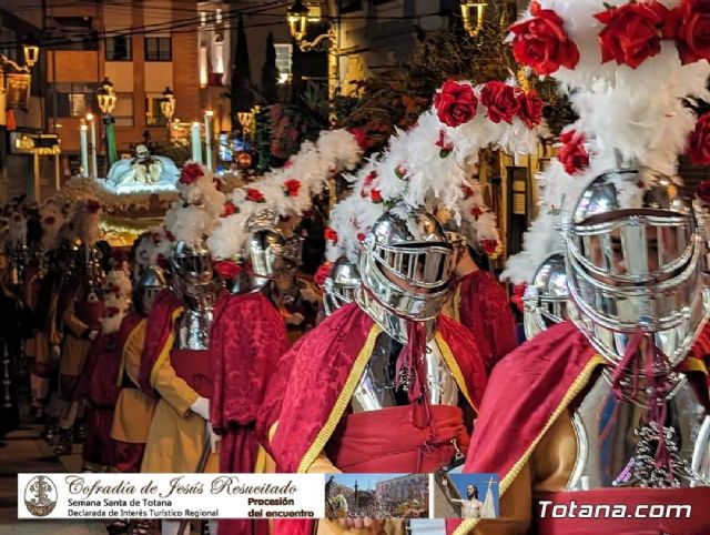
{"label": "plain red cape seen from behind, between the two nearest helmeted figures", "polygon": [[454,320],[474,333],[486,370],[518,345],[508,295],[487,271],[474,271],[458,281],[453,309]]}

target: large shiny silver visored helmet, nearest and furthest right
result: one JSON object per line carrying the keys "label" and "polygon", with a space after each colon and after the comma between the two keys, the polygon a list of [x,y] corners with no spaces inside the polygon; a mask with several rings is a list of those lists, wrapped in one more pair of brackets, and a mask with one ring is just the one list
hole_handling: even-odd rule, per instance
{"label": "large shiny silver visored helmet, nearest and furthest right", "polygon": [[569,314],[610,362],[639,329],[667,356],[655,373],[690,350],[706,315],[704,220],[670,178],[647,170],[601,174],[579,198],[566,222]]}

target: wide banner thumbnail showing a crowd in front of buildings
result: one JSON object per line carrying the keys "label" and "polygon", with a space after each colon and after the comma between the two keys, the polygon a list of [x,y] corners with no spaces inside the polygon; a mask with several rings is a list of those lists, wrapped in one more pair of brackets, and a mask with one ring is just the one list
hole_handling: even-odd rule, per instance
{"label": "wide banner thumbnail showing a crowd in front of buildings", "polygon": [[428,518],[428,474],[325,476],[326,518]]}

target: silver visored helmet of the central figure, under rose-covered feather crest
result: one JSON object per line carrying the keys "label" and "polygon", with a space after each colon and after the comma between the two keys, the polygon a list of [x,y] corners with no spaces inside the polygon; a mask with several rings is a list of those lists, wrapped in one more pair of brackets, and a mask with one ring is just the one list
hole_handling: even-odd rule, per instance
{"label": "silver visored helmet of the central figure, under rose-covered feather crest", "polygon": [[373,302],[399,319],[435,320],[449,294],[452,256],[453,245],[436,218],[398,203],[375,222],[363,242],[363,285],[356,301],[385,330]]}

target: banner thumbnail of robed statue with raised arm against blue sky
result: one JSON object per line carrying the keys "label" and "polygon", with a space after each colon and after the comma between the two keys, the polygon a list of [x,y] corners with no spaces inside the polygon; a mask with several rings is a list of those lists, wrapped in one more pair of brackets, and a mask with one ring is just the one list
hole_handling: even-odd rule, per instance
{"label": "banner thumbnail of robed statue with raised arm against blue sky", "polygon": [[498,474],[436,474],[435,518],[497,518]]}

